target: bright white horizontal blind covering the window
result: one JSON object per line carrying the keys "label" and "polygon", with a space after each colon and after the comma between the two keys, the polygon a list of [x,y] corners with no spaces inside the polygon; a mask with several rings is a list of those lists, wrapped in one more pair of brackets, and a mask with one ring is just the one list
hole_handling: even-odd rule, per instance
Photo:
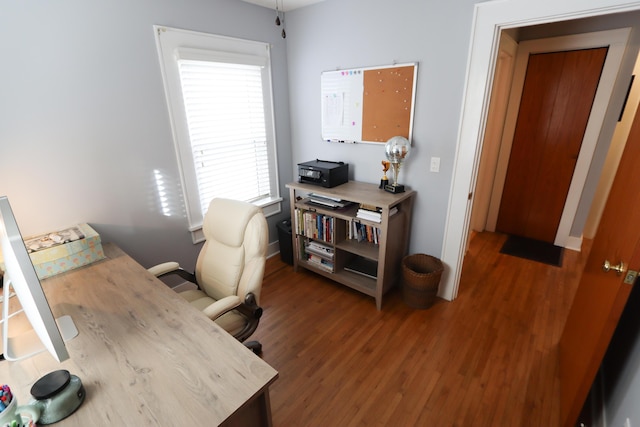
{"label": "bright white horizontal blind covering the window", "polygon": [[179,60],[203,214],[214,197],[269,196],[262,67]]}

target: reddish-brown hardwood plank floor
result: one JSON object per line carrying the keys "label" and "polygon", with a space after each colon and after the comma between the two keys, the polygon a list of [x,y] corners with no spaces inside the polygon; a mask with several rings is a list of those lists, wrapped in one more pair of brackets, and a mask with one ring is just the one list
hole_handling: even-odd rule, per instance
{"label": "reddish-brown hardwood plank floor", "polygon": [[454,302],[375,301],[272,258],[253,338],[280,426],[556,426],[557,343],[588,251],[563,268],[471,241]]}

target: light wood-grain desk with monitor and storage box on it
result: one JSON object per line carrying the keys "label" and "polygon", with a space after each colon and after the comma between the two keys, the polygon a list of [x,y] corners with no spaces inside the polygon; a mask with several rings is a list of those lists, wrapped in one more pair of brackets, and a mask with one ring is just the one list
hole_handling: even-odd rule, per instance
{"label": "light wood-grain desk with monitor and storage box on it", "polygon": [[84,403],[56,426],[271,425],[269,385],[278,373],[114,245],[107,259],[43,280],[56,317],[79,335],[71,358],[42,353],[0,362],[19,403],[33,383],[67,369]]}

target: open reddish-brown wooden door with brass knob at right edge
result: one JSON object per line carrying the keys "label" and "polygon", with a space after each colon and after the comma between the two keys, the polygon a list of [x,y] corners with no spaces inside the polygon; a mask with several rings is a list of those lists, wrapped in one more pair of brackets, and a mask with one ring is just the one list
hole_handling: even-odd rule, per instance
{"label": "open reddish-brown wooden door with brass knob at right edge", "polygon": [[[603,271],[605,260],[640,269],[640,109],[593,241],[560,339],[562,425],[575,423],[589,393],[631,285],[625,274]],[[561,286],[561,284],[558,284]]]}

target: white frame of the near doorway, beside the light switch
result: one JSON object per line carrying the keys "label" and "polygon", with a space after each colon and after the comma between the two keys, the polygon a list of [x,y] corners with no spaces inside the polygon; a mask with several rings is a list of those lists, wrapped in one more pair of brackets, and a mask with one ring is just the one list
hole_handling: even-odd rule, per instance
{"label": "white frame of the near doorway, beside the light switch", "polygon": [[498,0],[477,3],[471,29],[471,44],[456,143],[442,260],[447,268],[438,295],[453,300],[458,295],[472,193],[482,151],[495,60],[502,30],[527,25],[560,22],[640,10],[640,0]]}

